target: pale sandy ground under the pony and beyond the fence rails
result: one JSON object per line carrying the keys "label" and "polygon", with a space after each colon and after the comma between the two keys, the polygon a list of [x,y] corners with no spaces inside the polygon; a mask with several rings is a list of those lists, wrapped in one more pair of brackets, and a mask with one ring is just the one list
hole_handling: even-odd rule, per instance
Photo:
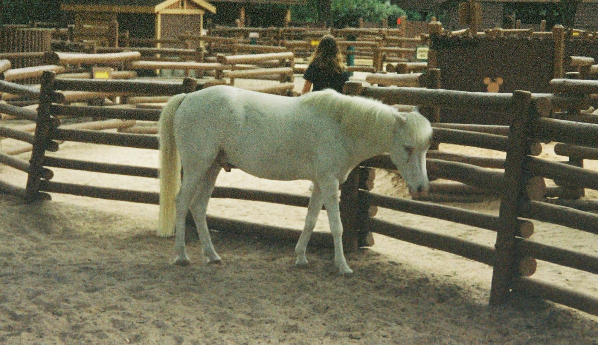
{"label": "pale sandy ground under the pony and beyond the fence rails", "polygon": [[[157,166],[157,152],[142,149],[65,143],[53,155]],[[563,159],[550,144],[542,155]],[[586,162],[598,170],[598,162]],[[0,175],[25,186],[24,173],[0,165]],[[55,175],[158,189],[151,178]],[[217,184],[309,195],[308,181],[261,180],[238,170],[222,171]],[[374,191],[405,194],[386,171],[378,171]],[[452,205],[498,214],[499,204]],[[301,229],[306,209],[212,199],[209,214]],[[377,217],[495,242],[495,233],[427,217],[382,209]],[[57,194],[24,204],[0,195],[0,220],[0,344],[598,344],[598,318],[517,296],[489,307],[492,267],[385,236],[347,255],[355,273],[339,276],[332,249],[308,247],[310,266],[298,269],[294,243],[224,232],[212,233],[222,264],[203,263],[194,242],[194,264],[173,266],[173,239],[154,235],[155,205]],[[535,241],[598,254],[595,236],[534,223]],[[317,230],[328,231],[325,212]],[[539,262],[534,277],[598,295],[595,275]]]}

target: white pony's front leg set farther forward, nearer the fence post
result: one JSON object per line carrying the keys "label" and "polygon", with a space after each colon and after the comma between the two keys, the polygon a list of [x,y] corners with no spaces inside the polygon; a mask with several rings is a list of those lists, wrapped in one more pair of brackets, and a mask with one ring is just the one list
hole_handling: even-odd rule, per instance
{"label": "white pony's front leg set farther forward, nearer the fence post", "polygon": [[347,265],[343,252],[343,224],[340,221],[340,211],[338,209],[338,180],[330,181],[324,185],[321,184],[321,189],[328,213],[330,232],[334,240],[334,263],[341,274],[353,273],[353,270]]}

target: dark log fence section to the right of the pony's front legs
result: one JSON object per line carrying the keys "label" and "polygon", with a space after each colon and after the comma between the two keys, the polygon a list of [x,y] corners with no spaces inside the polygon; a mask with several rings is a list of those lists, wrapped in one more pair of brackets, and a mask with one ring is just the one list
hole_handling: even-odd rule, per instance
{"label": "dark log fence section to the right of the pony's front legs", "polygon": [[[554,81],[557,92],[596,92],[596,82]],[[559,86],[557,86],[559,85]],[[504,161],[505,171],[499,173],[486,170],[475,165],[461,162],[447,162],[428,159],[428,167],[434,174],[453,180],[460,180],[478,186],[481,189],[497,189],[501,192],[501,213],[496,220],[491,221],[497,227],[497,241],[495,248],[469,244],[462,239],[449,236],[432,235],[424,230],[390,224],[372,217],[365,217],[358,224],[364,224],[361,237],[365,232],[377,232],[392,236],[415,244],[453,252],[472,260],[491,264],[495,267],[491,304],[504,301],[514,290],[523,294],[539,296],[557,301],[577,309],[596,315],[598,313],[598,298],[580,294],[576,291],[558,288],[548,282],[537,281],[526,276],[535,270],[535,259],[573,267],[587,272],[598,273],[596,270],[597,257],[580,254],[570,249],[548,247],[533,242],[529,238],[532,230],[529,223],[521,223],[518,217],[532,218],[572,227],[585,232],[596,233],[598,216],[589,212],[575,210],[568,207],[557,207],[544,201],[538,201],[529,189],[534,178],[532,175],[548,178],[563,178],[579,181],[584,187],[596,189],[598,175],[594,171],[584,170],[570,165],[547,162],[540,158],[529,156],[533,151],[530,143],[536,140],[557,140],[576,145],[596,147],[597,130],[594,124],[579,124],[572,121],[559,121],[542,117],[549,115],[555,105],[546,101],[544,96],[536,96],[526,91],[515,91],[513,94],[475,94],[456,93],[456,91],[426,90],[414,88],[383,88],[355,85],[349,88],[352,94],[360,94],[380,98],[389,104],[414,104],[438,107],[453,107],[456,109],[480,109],[489,107],[496,112],[512,114],[513,122],[508,132],[509,146],[502,146],[507,150]],[[415,97],[413,97],[415,96]],[[575,100],[575,96],[573,96]],[[548,109],[548,111],[547,111]],[[501,149],[500,141],[495,141],[501,135],[472,133],[459,131],[458,135],[450,134],[451,130],[435,127],[435,139],[447,143],[466,144],[468,146]],[[492,138],[492,139],[491,139]],[[503,137],[507,138],[507,137]],[[585,140],[582,138],[586,138]],[[375,158],[362,164],[368,167],[392,168],[388,158]],[[436,166],[435,166],[436,165]],[[363,188],[363,187],[362,187]],[[425,202],[408,201],[376,195],[365,190],[356,192],[367,200],[360,207],[369,209],[372,206],[391,208],[404,212],[415,212],[431,217],[457,221],[465,224],[490,229],[479,219],[480,215],[465,215],[462,211]],[[521,202],[524,202],[522,205]],[[460,214],[460,215],[459,215]],[[526,224],[523,226],[523,224]],[[522,227],[523,226],[523,227]],[[525,230],[524,230],[525,229]],[[359,238],[359,236],[358,236]],[[524,274],[525,273],[525,274]]]}

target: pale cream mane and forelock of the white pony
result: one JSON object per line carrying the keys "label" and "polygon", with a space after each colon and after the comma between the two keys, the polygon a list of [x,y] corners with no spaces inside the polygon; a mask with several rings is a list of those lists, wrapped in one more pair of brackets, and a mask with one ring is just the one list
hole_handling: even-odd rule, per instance
{"label": "pale cream mane and forelock of the white pony", "polygon": [[[301,96],[300,101],[320,110],[322,116],[338,122],[349,137],[369,138],[374,144],[389,147],[396,119],[391,107],[381,101],[347,96],[331,89],[307,93]],[[407,119],[404,127],[406,142],[419,144],[430,140],[432,128],[417,108],[411,112],[401,112],[401,115]]]}

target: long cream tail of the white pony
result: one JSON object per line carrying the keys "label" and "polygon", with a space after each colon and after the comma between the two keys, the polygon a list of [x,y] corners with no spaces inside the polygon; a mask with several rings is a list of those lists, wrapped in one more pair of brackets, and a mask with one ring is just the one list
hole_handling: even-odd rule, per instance
{"label": "long cream tail of the white pony", "polygon": [[175,229],[175,196],[181,187],[181,160],[173,135],[173,119],[185,94],[170,97],[160,114],[160,214],[158,236],[172,236]]}

